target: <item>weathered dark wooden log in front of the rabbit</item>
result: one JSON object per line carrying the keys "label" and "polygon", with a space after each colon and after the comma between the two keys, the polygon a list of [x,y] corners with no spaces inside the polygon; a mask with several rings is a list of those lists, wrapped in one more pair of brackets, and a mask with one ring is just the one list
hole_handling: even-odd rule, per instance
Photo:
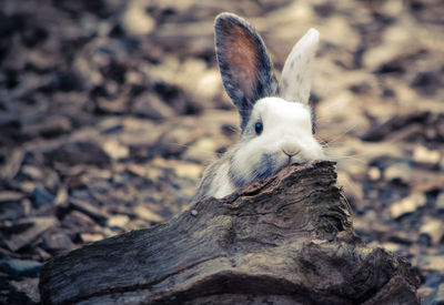
{"label": "weathered dark wooden log in front of the rabbit", "polygon": [[417,304],[418,284],[354,235],[334,163],[316,162],[53,258],[40,291],[43,304]]}

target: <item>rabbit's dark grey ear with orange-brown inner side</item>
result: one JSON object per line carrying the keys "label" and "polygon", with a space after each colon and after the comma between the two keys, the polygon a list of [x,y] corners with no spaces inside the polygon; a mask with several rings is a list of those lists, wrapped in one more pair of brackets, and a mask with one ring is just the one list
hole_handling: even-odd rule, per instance
{"label": "rabbit's dark grey ear with orange-brown inner side", "polygon": [[242,18],[221,13],[215,19],[215,48],[222,82],[241,114],[241,129],[254,103],[275,95],[278,81],[265,44]]}

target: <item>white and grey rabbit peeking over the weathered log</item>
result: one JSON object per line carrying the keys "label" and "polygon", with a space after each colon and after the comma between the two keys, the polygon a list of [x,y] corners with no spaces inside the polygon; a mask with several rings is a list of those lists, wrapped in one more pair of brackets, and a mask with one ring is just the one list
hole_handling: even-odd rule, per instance
{"label": "white and grey rabbit peeking over the weathered log", "polygon": [[320,33],[310,29],[293,47],[278,83],[262,38],[244,19],[215,18],[222,82],[241,116],[239,142],[203,173],[193,201],[221,199],[293,163],[324,157],[309,105]]}

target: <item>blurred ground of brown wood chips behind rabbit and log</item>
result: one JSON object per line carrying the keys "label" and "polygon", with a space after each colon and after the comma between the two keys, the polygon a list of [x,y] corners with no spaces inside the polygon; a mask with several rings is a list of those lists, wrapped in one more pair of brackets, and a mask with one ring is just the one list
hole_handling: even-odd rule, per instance
{"label": "blurred ground of brown wood chips behind rabbit and log", "polygon": [[[34,304],[42,263],[184,209],[238,139],[214,17],[261,33],[279,77],[321,32],[311,101],[354,226],[444,302],[441,0],[2,0],[0,303]],[[437,304],[437,303],[436,303]]]}

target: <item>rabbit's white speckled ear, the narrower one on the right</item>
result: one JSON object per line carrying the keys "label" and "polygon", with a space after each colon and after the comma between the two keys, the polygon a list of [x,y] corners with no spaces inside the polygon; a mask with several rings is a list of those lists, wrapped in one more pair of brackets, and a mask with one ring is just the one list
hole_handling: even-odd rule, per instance
{"label": "rabbit's white speckled ear, the narrower one on the right", "polygon": [[293,47],[282,70],[280,82],[281,98],[287,101],[307,103],[314,54],[320,33],[310,29]]}

